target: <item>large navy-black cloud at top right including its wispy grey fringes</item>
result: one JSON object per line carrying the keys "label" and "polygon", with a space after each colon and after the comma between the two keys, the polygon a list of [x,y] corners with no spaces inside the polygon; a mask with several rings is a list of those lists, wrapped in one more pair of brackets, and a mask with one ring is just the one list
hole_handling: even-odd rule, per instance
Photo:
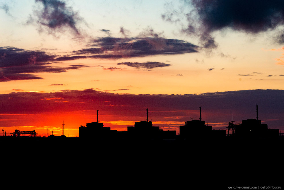
{"label": "large navy-black cloud at top right including its wispy grey fringes", "polygon": [[[180,23],[186,17],[187,26],[182,31],[199,37],[205,48],[215,48],[217,44],[212,32],[227,28],[250,34],[274,30],[284,24],[284,1],[247,1],[247,0],[188,0],[184,1],[187,9],[184,14],[168,6],[162,18],[169,22]],[[187,7],[187,8],[186,8]],[[278,43],[284,42],[284,32],[275,38]]]}

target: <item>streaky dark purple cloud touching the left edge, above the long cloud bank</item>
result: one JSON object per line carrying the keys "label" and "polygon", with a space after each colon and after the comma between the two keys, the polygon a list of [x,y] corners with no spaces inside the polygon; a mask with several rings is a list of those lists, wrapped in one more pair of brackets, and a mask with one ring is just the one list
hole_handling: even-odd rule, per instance
{"label": "streaky dark purple cloud touching the left edge, above the long cloud bank", "polygon": [[0,81],[41,79],[35,74],[40,72],[60,73],[70,69],[86,67],[71,65],[69,67],[49,66],[57,55],[48,55],[44,51],[25,51],[15,47],[0,47]]}

